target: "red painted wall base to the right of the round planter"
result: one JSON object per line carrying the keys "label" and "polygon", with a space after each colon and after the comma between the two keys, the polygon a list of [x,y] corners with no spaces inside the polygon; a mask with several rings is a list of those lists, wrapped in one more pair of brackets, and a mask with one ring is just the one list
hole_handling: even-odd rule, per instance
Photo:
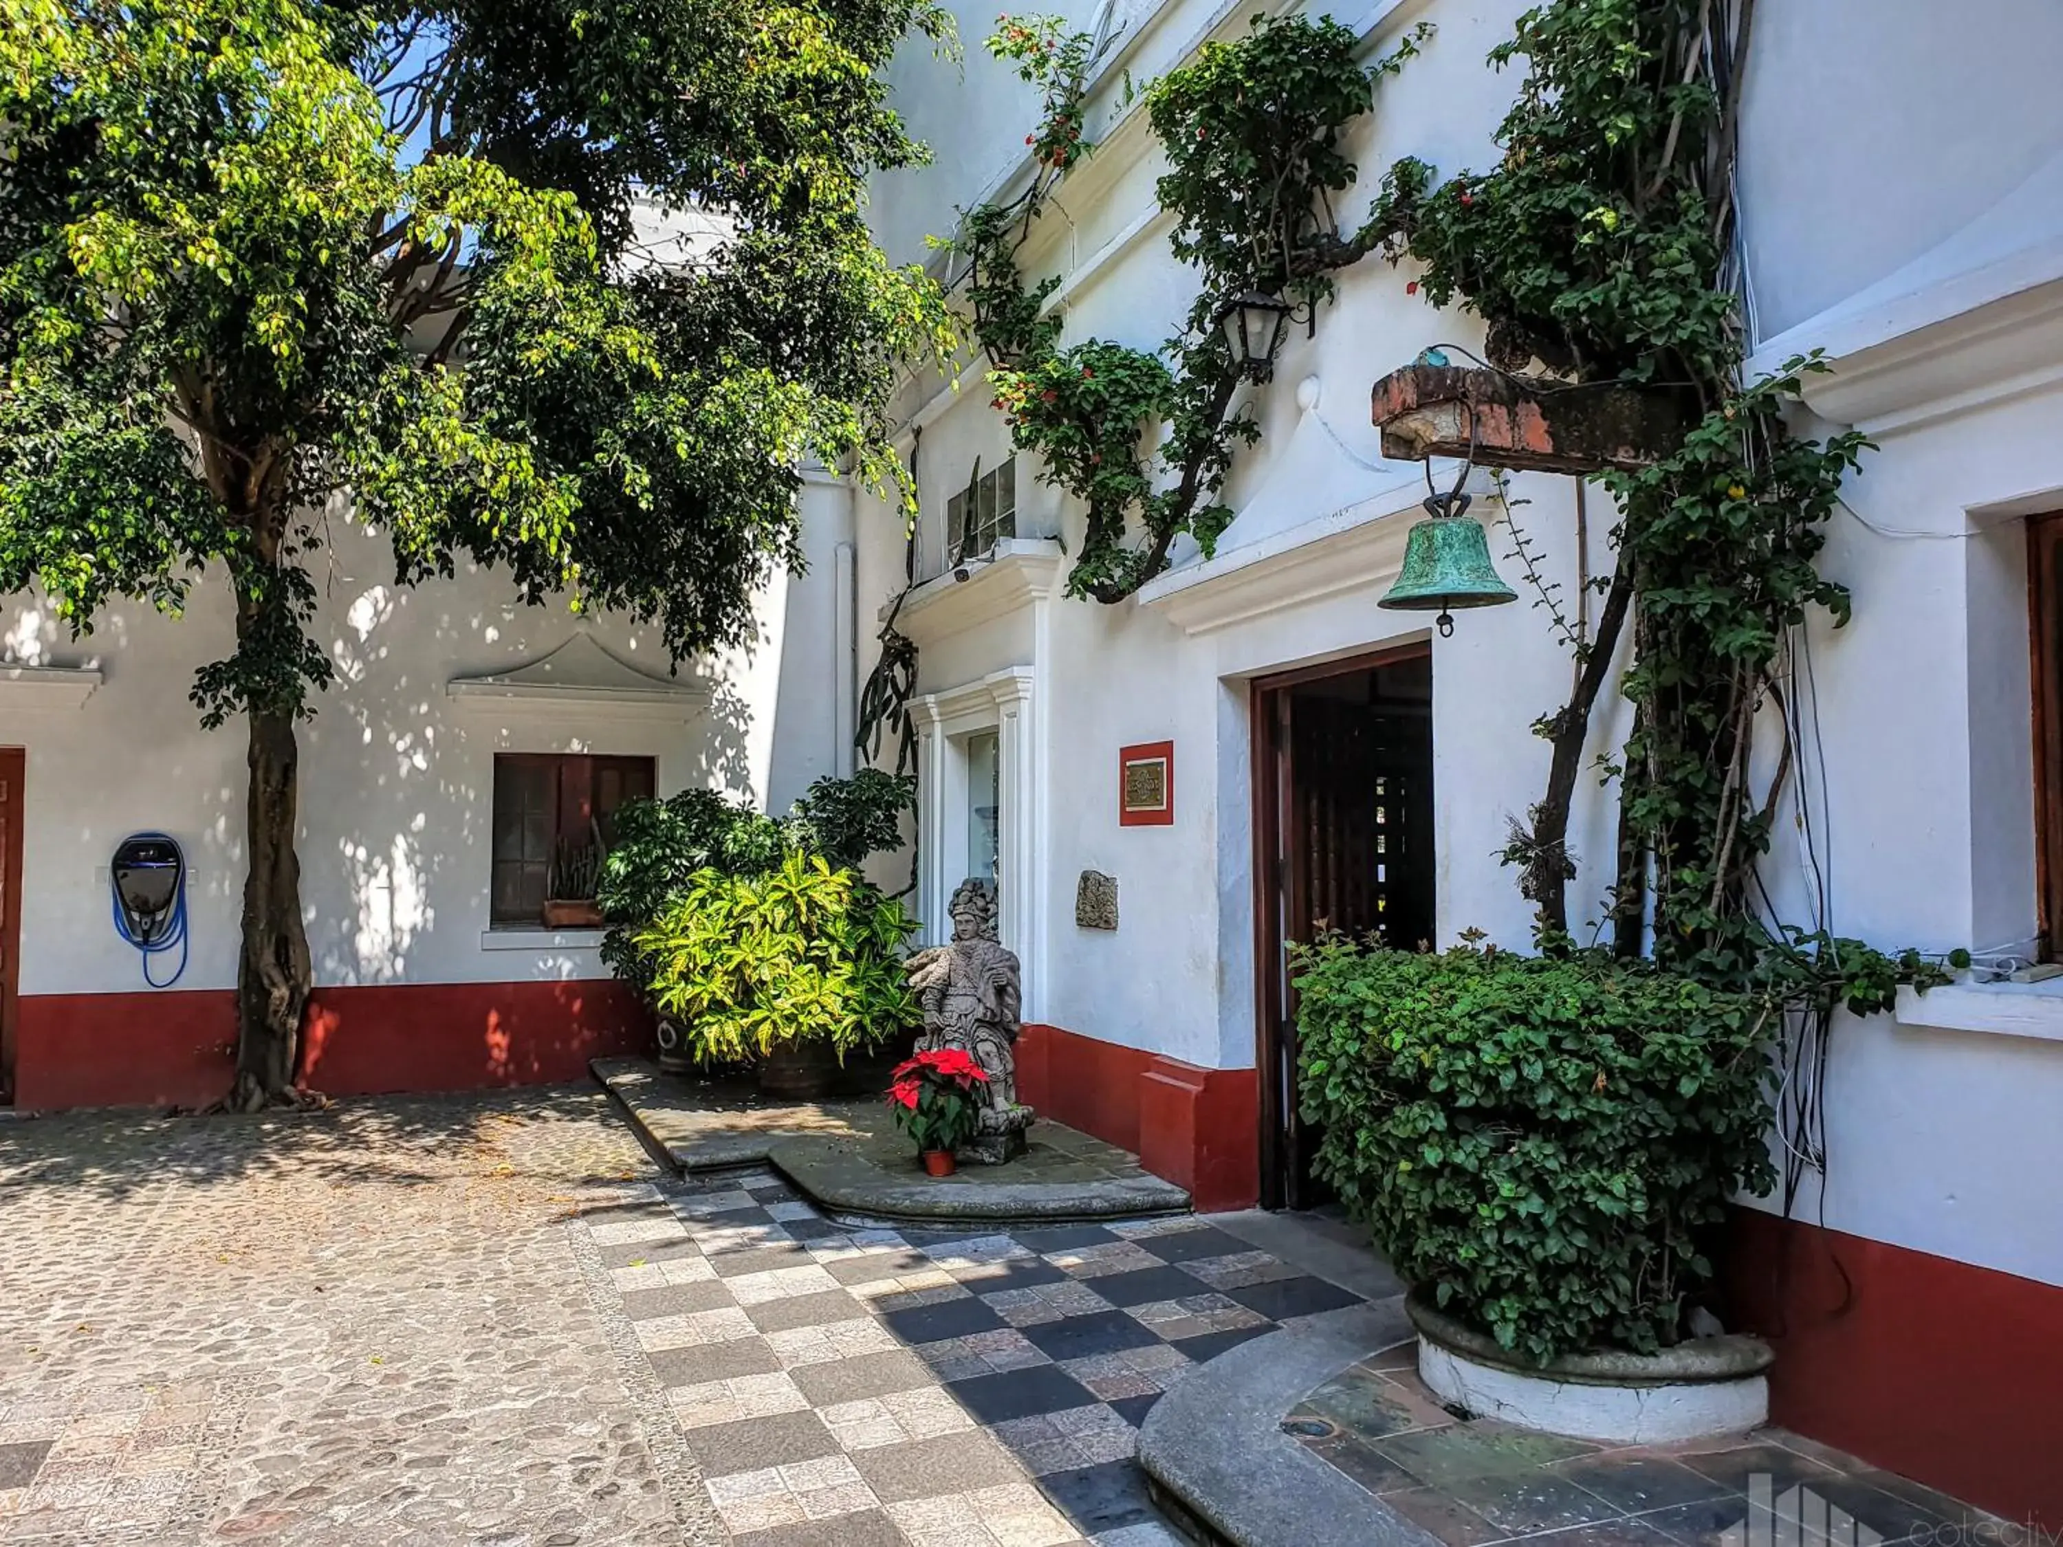
{"label": "red painted wall base to the right of the round planter", "polygon": [[2063,1530],[2063,1289],[1760,1209],[1735,1211],[1731,1248],[1778,1423]]}

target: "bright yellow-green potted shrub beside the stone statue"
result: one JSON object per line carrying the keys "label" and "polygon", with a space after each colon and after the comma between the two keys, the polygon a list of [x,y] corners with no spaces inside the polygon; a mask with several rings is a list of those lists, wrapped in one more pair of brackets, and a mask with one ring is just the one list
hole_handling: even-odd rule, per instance
{"label": "bright yellow-green potted shrub beside the stone statue", "polygon": [[914,928],[856,873],[790,852],[763,875],[697,870],[629,947],[703,1062],[805,1040],[844,1058],[922,1019],[899,957]]}

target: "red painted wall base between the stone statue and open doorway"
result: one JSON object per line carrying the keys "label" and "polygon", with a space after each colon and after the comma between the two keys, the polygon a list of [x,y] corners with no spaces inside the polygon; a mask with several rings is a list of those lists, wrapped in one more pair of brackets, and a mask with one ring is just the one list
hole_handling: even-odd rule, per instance
{"label": "red painted wall base between the stone statue and open doorway", "polygon": [[1131,1149],[1203,1211],[1260,1198],[1260,1085],[1252,1068],[1199,1068],[1141,1048],[1029,1023],[1017,1095],[1054,1122]]}

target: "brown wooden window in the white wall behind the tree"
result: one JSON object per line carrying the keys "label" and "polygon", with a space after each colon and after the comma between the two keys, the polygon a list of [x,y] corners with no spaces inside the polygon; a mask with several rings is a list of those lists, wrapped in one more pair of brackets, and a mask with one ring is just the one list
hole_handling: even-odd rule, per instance
{"label": "brown wooden window in the white wall behind the tree", "polygon": [[650,757],[495,757],[489,922],[497,928],[543,924],[545,903],[559,901],[551,895],[553,866],[596,844],[607,848],[617,807],[650,800],[652,790]]}

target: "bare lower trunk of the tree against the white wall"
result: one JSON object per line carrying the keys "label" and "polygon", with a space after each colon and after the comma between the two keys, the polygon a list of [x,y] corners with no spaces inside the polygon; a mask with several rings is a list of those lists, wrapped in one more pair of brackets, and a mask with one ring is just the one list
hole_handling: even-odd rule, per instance
{"label": "bare lower trunk of the tree against the white wall", "polygon": [[237,963],[237,1083],[229,1093],[237,1112],[295,1099],[301,1013],[314,980],[301,924],[301,862],[293,852],[299,780],[293,716],[252,710],[248,720],[250,873]]}

